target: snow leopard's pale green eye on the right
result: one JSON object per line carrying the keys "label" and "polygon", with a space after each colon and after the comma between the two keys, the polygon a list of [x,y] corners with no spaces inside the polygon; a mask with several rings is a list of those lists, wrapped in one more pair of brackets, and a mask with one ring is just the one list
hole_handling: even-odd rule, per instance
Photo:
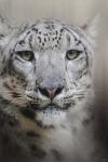
{"label": "snow leopard's pale green eye on the right", "polygon": [[66,53],[66,57],[67,59],[76,59],[80,53],[81,51],[78,51],[78,50],[69,50]]}

